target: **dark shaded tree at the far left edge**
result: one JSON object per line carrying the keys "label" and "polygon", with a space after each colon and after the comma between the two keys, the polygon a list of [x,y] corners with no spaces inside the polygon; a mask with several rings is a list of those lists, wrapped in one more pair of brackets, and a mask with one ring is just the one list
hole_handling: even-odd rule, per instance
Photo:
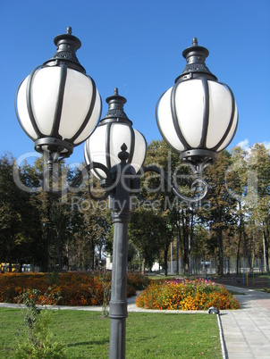
{"label": "dark shaded tree at the far left edge", "polygon": [[19,169],[12,155],[0,158],[0,256],[10,265],[35,262],[36,243],[41,234],[38,214],[35,219],[32,216],[36,213],[32,194],[16,185],[20,181],[14,182],[14,176],[19,176],[23,184],[27,172],[30,182],[34,181],[30,166],[24,164]]}

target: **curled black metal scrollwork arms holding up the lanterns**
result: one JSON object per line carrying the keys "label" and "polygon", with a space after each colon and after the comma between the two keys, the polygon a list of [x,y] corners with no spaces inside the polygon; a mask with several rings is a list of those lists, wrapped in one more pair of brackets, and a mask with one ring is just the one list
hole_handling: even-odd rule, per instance
{"label": "curled black metal scrollwork arms holding up the lanterns", "polygon": [[[122,152],[119,153],[119,158],[122,161],[122,165],[126,163],[129,154],[126,152],[126,146],[122,145]],[[190,177],[193,178],[193,181],[190,185],[190,196],[186,196],[183,194],[183,191],[181,190],[179,184],[177,183],[178,178],[184,178],[185,175],[179,175],[177,173],[177,170],[174,171],[173,176],[169,176],[161,167],[158,167],[156,165],[148,165],[141,167],[137,174],[131,175],[131,195],[137,196],[140,201],[143,202],[155,202],[158,196],[160,196],[161,192],[167,191],[173,191],[174,196],[177,196],[181,199],[181,201],[184,201],[188,204],[195,204],[200,201],[202,201],[207,196],[207,181],[203,179],[203,172],[212,163],[212,159],[206,159],[205,161],[202,161],[201,159],[196,159],[191,161],[190,159],[186,159],[184,161],[184,165],[188,166],[191,171],[191,175],[187,175],[187,178],[190,179]],[[128,167],[130,166],[128,163],[126,164]],[[127,168],[128,168],[127,167]],[[82,170],[80,170],[80,173],[72,180],[72,184],[66,188],[64,188],[62,191],[55,191],[54,190],[54,184],[57,183],[58,177],[57,174],[54,171],[54,164],[49,165],[47,171],[44,174],[44,190],[46,193],[48,193],[50,196],[60,197],[63,196],[64,193],[67,193],[68,191],[74,192],[75,188],[80,184],[81,180],[90,172],[95,170],[101,170],[105,173],[105,179],[102,179],[100,181],[101,187],[103,188],[102,191],[104,192],[101,196],[96,196],[94,193],[95,183],[92,181],[89,184],[89,196],[95,201],[101,201],[105,200],[110,193],[114,191],[114,188],[117,186],[117,181],[123,180],[122,179],[122,171],[124,172],[124,168],[122,170],[119,168],[118,177],[115,178],[112,174],[112,169],[109,170],[104,164],[92,162],[89,163],[87,166],[85,166]],[[114,171],[116,170],[116,167]],[[118,171],[118,170],[117,170]],[[141,196],[142,189],[140,186],[140,179],[142,176],[145,175],[147,172],[153,172],[156,173],[160,180],[162,181],[161,186],[158,188],[148,188],[149,192],[155,193],[154,198],[144,198]],[[124,176],[123,176],[124,177]]]}

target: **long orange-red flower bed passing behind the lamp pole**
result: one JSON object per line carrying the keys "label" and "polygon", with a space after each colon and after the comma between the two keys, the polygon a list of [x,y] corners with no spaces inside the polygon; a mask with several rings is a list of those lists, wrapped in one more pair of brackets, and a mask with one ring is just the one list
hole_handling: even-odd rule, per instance
{"label": "long orange-red flower bed passing behind the lamp pole", "polygon": [[[148,283],[146,277],[133,273],[128,273],[127,281],[127,296]],[[17,303],[16,297],[27,289],[38,289],[40,302],[46,298],[46,305],[53,304],[58,294],[58,305],[102,305],[110,282],[111,272],[5,273],[0,275],[0,302]]]}

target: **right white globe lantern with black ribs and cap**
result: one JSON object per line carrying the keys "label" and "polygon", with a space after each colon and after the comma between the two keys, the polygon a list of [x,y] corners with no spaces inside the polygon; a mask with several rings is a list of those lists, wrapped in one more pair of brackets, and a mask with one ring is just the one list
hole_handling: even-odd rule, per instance
{"label": "right white globe lantern with black ribs and cap", "polygon": [[156,104],[157,126],[181,159],[215,160],[230,144],[238,124],[232,90],[217,81],[205,64],[207,48],[193,45],[183,51],[187,66]]}

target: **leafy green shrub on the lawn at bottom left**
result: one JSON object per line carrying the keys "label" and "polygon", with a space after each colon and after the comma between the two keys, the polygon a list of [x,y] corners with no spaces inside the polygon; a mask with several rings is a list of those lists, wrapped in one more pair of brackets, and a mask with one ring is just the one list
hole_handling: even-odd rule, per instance
{"label": "leafy green shrub on the lawn at bottom left", "polygon": [[[50,288],[48,289],[48,291]],[[18,342],[16,359],[64,359],[67,358],[65,348],[61,343],[53,341],[53,335],[49,330],[51,314],[43,305],[46,300],[52,301],[54,294],[41,296],[38,289],[27,289],[19,296],[18,303],[24,305],[21,313],[24,317],[24,328],[27,331],[27,338],[23,342]],[[57,298],[55,298],[56,304]]]}

